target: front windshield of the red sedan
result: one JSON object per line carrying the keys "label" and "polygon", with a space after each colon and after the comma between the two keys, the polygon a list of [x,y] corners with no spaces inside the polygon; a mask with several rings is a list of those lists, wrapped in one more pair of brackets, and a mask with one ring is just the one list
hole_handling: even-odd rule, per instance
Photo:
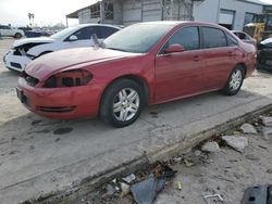
{"label": "front windshield of the red sedan", "polygon": [[107,38],[103,47],[124,52],[147,53],[171,28],[173,25],[132,25]]}

